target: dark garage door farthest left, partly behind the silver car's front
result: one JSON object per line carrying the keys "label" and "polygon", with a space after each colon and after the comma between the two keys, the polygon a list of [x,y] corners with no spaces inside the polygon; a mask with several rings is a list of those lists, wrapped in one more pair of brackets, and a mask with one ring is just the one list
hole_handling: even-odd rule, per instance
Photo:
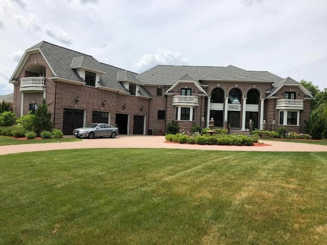
{"label": "dark garage door farthest left, partly behind the silver car's front", "polygon": [[62,132],[64,135],[73,134],[73,130],[83,127],[84,110],[63,109]]}

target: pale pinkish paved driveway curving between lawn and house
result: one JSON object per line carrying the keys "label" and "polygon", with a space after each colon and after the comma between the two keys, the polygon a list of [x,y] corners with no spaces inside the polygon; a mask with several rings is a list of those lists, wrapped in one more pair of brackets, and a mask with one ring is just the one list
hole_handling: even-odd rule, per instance
{"label": "pale pinkish paved driveway curving between lawn and house", "polygon": [[260,140],[269,146],[227,146],[227,145],[196,145],[165,142],[165,136],[119,135],[115,139],[83,139],[77,142],[16,144],[0,146],[0,155],[50,151],[62,149],[87,148],[168,148],[210,151],[258,151],[258,152],[327,152],[326,145],[292,143],[282,141]]}

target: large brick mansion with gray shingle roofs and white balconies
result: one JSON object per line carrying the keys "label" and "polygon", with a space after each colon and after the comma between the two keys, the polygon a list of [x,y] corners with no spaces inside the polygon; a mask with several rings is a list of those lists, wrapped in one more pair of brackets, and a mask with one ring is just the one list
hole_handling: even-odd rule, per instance
{"label": "large brick mansion with gray shingle roofs and white balconies", "polygon": [[311,93],[291,78],[232,65],[157,65],[142,74],[97,61],[94,57],[42,41],[26,50],[10,83],[13,111],[26,115],[43,98],[56,128],[69,135],[91,122],[117,126],[121,134],[165,133],[180,128],[246,130],[277,127],[304,133]]}

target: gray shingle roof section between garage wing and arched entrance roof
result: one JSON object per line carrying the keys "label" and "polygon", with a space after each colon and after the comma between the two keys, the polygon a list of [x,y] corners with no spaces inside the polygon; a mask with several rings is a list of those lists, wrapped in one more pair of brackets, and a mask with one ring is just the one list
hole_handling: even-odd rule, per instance
{"label": "gray shingle roof section between garage wing and arched entrance roof", "polygon": [[220,66],[157,65],[137,75],[136,78],[143,84],[173,85],[185,74],[198,82],[202,77],[222,68]]}

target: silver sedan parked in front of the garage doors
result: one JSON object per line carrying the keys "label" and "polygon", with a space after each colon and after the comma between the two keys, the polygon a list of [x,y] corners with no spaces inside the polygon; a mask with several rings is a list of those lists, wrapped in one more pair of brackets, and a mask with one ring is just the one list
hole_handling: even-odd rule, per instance
{"label": "silver sedan parked in front of the garage doors", "polygon": [[110,136],[115,138],[119,134],[118,128],[109,124],[89,124],[84,128],[74,129],[73,134],[77,138],[88,137],[93,139],[95,137]]}

